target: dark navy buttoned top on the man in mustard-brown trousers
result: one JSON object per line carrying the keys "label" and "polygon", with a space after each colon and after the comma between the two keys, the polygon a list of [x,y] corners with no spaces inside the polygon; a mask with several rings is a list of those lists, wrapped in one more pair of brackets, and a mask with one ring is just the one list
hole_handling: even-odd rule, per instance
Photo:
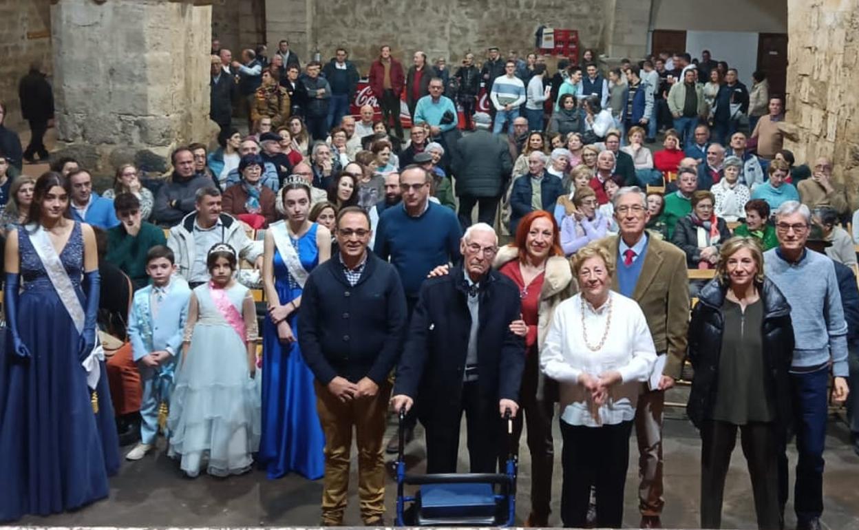
{"label": "dark navy buttoned top on the man in mustard-brown trousers", "polygon": [[393,369],[405,331],[405,294],[393,265],[368,251],[355,286],[338,256],[310,273],[302,293],[298,339],[316,379],[336,376],[381,385]]}

